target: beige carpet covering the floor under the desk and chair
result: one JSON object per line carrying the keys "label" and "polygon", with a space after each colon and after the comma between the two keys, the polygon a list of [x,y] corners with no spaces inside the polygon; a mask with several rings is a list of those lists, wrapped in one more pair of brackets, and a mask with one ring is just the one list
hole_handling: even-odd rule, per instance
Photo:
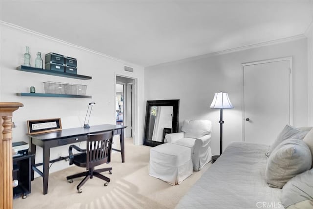
{"label": "beige carpet covering the floor under the desk and chair", "polygon": [[[118,146],[119,147],[119,146]],[[125,139],[125,163],[121,154],[112,154],[113,174],[102,173],[111,179],[108,186],[98,178],[89,179],[77,193],[76,186],[81,178],[72,184],[66,176],[83,172],[75,165],[50,174],[48,194],[43,195],[42,178],[32,182],[32,192],[26,199],[13,200],[14,209],[172,209],[179,199],[201,177],[211,163],[201,171],[194,172],[180,185],[171,186],[148,175],[149,150],[151,147],[133,145],[131,138]],[[102,167],[102,166],[99,166]]]}

